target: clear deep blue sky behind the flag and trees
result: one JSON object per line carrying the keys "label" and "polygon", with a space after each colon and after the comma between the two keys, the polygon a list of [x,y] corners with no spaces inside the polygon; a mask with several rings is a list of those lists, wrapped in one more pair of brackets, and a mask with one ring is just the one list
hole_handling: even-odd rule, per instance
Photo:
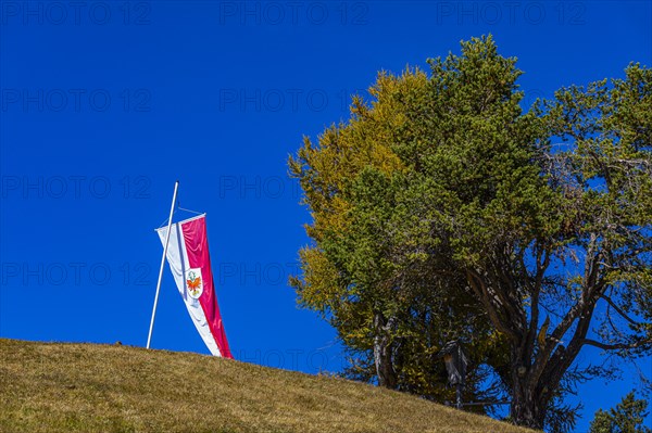
{"label": "clear deep blue sky behind the flag and trees", "polygon": [[[143,346],[179,179],[208,213],[234,355],[337,371],[333,330],[287,286],[308,242],[286,166],[302,136],[378,71],[472,36],[518,58],[530,102],[652,65],[651,23],[648,1],[1,1],[0,336]],[[152,346],[208,353],[167,269]],[[634,375],[582,385],[577,431]]]}

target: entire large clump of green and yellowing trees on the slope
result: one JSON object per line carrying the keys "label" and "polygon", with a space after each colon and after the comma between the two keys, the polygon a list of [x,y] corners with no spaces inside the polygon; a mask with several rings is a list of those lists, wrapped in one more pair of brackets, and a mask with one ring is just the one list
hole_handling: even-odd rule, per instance
{"label": "entire large clump of green and yellowing trees on the slope", "polygon": [[515,62],[491,37],[463,42],[429,75],[381,74],[348,124],[305,139],[290,171],[314,244],[292,283],[373,353],[380,384],[405,368],[431,380],[419,351],[454,336],[514,422],[563,431],[564,394],[605,373],[577,362],[584,347],[652,348],[652,73],[632,64],[523,113]]}

